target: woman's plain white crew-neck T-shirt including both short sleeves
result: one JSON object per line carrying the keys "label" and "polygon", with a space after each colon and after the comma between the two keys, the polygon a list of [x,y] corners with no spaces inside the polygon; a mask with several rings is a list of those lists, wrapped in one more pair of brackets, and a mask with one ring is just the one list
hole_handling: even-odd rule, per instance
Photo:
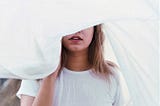
{"label": "woman's plain white crew-neck T-shirt including both short sleeves", "polygon": [[[109,84],[96,77],[91,69],[81,72],[63,68],[56,80],[53,106],[131,106],[129,92],[119,70],[114,70]],[[17,92],[35,97],[40,83],[36,80],[22,80]]]}

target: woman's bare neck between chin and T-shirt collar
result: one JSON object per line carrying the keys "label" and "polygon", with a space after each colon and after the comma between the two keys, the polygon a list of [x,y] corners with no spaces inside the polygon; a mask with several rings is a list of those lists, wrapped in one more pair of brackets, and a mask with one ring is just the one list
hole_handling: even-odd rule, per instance
{"label": "woman's bare neck between chin and T-shirt collar", "polygon": [[90,68],[88,61],[88,51],[68,52],[67,64],[65,66],[70,70],[84,71]]}

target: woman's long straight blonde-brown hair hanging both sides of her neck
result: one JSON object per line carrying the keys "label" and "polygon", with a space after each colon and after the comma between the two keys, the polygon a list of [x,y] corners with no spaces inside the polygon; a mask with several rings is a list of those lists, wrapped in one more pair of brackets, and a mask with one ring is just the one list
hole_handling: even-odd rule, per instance
{"label": "woman's long straight blonde-brown hair hanging both sides of her neck", "polygon": [[[89,45],[89,51],[88,51],[88,61],[93,69],[93,73],[95,73],[99,77],[103,77],[107,80],[109,80],[109,76],[112,75],[112,69],[113,67],[116,67],[116,65],[110,61],[104,60],[104,33],[102,31],[102,24],[94,26],[94,34],[92,41]],[[61,69],[66,65],[67,60],[67,50],[62,45],[62,52],[61,52],[61,68],[59,71],[59,74],[61,72]]]}

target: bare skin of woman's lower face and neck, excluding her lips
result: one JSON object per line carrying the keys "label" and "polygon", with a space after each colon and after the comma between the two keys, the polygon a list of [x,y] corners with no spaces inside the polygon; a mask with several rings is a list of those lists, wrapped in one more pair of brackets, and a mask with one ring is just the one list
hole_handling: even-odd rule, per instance
{"label": "bare skin of woman's lower face and neck, excluding her lips", "polygon": [[[78,36],[82,40],[72,41],[68,40],[73,36]],[[72,35],[63,37],[62,42],[64,47],[68,50],[67,53],[67,67],[70,70],[82,71],[89,68],[88,62],[88,46],[93,38],[93,27],[82,30]]]}

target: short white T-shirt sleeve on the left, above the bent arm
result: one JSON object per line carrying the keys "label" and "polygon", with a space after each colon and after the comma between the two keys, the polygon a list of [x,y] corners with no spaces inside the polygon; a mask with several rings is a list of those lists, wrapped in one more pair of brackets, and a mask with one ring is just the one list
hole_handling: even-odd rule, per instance
{"label": "short white T-shirt sleeve on the left, above the bent arm", "polygon": [[22,80],[21,86],[17,92],[17,97],[21,98],[21,95],[28,95],[35,97],[38,93],[40,84],[37,80]]}

